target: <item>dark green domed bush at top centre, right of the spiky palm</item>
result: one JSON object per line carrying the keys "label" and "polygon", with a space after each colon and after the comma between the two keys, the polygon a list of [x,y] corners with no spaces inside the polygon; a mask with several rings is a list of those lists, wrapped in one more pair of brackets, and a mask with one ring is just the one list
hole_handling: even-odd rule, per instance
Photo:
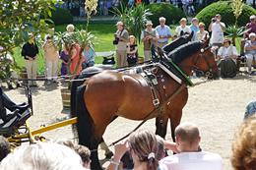
{"label": "dark green domed bush at top centre, right of the spiky palm", "polygon": [[185,17],[182,10],[171,4],[155,3],[149,5],[148,8],[153,14],[150,16],[150,20],[153,22],[154,27],[157,27],[160,24],[160,17],[166,19],[166,25],[168,26],[178,24],[180,19]]}

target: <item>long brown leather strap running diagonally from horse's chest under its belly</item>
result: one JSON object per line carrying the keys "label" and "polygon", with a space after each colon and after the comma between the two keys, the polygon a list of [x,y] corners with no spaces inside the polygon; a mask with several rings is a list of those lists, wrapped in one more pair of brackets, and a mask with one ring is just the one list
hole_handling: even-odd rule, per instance
{"label": "long brown leather strap running diagonally from horse's chest under its belly", "polygon": [[[133,130],[132,130],[129,134],[127,134],[126,136],[122,137],[121,139],[119,139],[119,140],[117,140],[117,141],[115,141],[115,142],[110,143],[110,144],[107,145],[107,146],[112,146],[112,145],[114,145],[115,143],[120,142],[120,141],[126,139],[126,138],[127,138],[128,136],[130,136],[132,133],[134,133],[135,131],[137,131],[145,122],[148,121],[148,119],[149,119],[156,111],[161,111],[161,109],[163,108],[163,106],[164,106],[165,104],[167,104],[168,102],[170,102],[170,101],[171,101],[177,94],[179,94],[179,92],[180,92],[182,89],[184,89],[185,87],[186,87],[185,84],[180,85],[180,86],[178,87],[178,89],[175,90],[175,92],[172,93],[165,101],[163,101],[163,102],[160,104],[160,106],[159,106],[158,108],[155,108],[155,109],[154,109],[153,111],[151,111],[148,115],[146,115],[146,116],[144,117],[144,120],[143,120],[135,129],[133,129]],[[91,151],[96,151],[96,149],[95,149],[95,150],[91,150]]]}

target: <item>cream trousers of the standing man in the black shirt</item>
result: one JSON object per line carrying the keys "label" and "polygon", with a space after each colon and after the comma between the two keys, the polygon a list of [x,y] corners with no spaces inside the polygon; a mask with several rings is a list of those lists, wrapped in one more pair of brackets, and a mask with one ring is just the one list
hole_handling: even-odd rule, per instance
{"label": "cream trousers of the standing man in the black shirt", "polygon": [[[26,60],[26,68],[27,68],[28,79],[36,79],[36,71],[37,71],[36,59],[32,61]],[[35,81],[29,81],[29,85],[36,85],[36,83]]]}

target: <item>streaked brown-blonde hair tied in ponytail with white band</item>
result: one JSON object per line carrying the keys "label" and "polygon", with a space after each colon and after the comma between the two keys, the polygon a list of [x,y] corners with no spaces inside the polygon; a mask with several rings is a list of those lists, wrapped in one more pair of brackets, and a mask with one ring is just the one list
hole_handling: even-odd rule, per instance
{"label": "streaked brown-blonde hair tied in ponytail with white band", "polygon": [[157,153],[159,150],[156,135],[147,130],[133,133],[129,138],[131,150],[139,158],[140,162],[147,162],[148,170],[157,170],[159,160]]}

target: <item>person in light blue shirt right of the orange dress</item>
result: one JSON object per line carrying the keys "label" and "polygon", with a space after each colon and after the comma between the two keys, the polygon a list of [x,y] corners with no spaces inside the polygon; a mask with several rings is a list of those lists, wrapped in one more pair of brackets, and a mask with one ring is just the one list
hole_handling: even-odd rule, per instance
{"label": "person in light blue shirt right of the orange dress", "polygon": [[84,50],[85,61],[82,63],[83,69],[95,66],[95,57],[96,57],[96,52],[94,47],[91,44],[87,44]]}

